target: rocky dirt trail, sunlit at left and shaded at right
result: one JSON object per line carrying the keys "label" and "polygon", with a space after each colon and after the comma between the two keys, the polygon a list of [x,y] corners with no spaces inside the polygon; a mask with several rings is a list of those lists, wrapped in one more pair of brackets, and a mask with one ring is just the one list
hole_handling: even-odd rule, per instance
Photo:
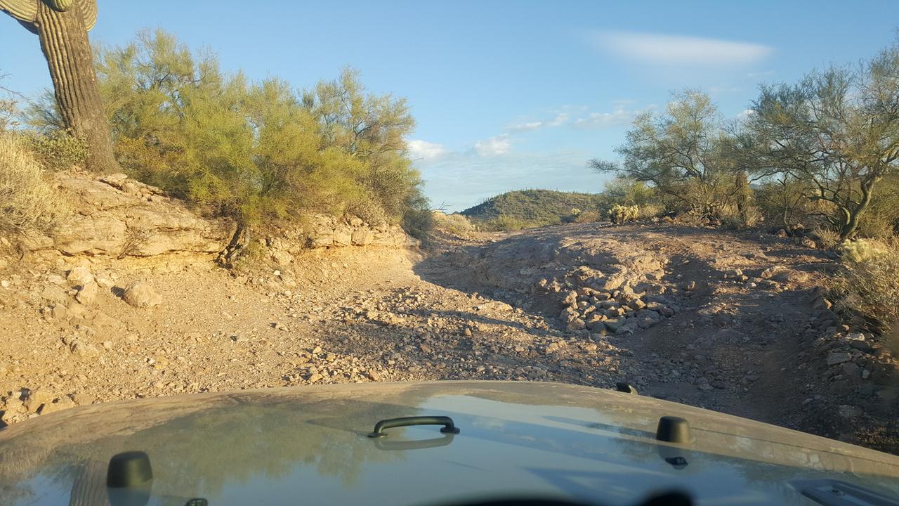
{"label": "rocky dirt trail, sunlit at left and shaded at right", "polygon": [[9,264],[0,420],[282,385],[626,382],[899,451],[895,360],[842,327],[816,288],[830,254],[788,239],[590,223],[452,238],[424,254],[277,253],[236,272],[177,256]]}

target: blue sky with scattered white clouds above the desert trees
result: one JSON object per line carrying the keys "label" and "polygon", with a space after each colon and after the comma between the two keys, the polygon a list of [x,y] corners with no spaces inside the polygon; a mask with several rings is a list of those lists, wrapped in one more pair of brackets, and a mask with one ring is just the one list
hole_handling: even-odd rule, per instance
{"label": "blue sky with scattered white clouds above the desert trees", "polygon": [[[252,5],[252,8],[247,8]],[[360,69],[407,97],[415,164],[457,211],[520,188],[600,191],[589,158],[614,158],[635,113],[695,87],[725,116],[760,82],[791,81],[895,38],[899,2],[99,0],[94,44],[162,27],[223,67],[299,88]],[[49,86],[37,37],[0,19],[0,84]]]}

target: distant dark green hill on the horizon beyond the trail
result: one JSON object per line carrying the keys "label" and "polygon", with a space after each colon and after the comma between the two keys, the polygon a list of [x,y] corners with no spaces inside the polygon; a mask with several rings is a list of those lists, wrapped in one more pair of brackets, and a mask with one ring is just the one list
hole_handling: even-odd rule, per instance
{"label": "distant dark green hill on the horizon beyond the trail", "polygon": [[494,221],[500,217],[527,221],[530,226],[548,225],[571,215],[572,209],[595,211],[599,194],[556,192],[553,190],[517,190],[498,194],[469,207],[461,214],[473,220]]}

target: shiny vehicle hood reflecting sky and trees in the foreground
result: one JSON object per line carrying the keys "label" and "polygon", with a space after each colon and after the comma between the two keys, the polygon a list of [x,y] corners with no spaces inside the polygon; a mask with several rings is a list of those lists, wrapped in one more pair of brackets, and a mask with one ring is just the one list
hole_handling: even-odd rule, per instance
{"label": "shiny vehicle hood reflecting sky and trees in the foreground", "polygon": [[[378,420],[419,415],[449,416],[460,433],[417,426],[368,437]],[[656,441],[662,416],[688,420],[693,440]],[[827,438],[585,386],[433,382],[199,393],[51,413],[0,430],[0,497],[105,501],[110,458],[129,450],[149,456],[151,504],[508,495],[631,504],[671,489],[700,503],[814,504],[803,495],[810,480],[899,496],[899,457]]]}

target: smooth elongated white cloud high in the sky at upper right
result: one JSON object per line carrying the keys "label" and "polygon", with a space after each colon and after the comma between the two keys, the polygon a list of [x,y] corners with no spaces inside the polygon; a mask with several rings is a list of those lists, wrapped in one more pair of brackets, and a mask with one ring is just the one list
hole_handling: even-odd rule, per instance
{"label": "smooth elongated white cloud high in the sky at upper right", "polygon": [[601,50],[637,61],[662,65],[734,66],[761,61],[773,48],[751,42],[640,32],[602,32]]}

